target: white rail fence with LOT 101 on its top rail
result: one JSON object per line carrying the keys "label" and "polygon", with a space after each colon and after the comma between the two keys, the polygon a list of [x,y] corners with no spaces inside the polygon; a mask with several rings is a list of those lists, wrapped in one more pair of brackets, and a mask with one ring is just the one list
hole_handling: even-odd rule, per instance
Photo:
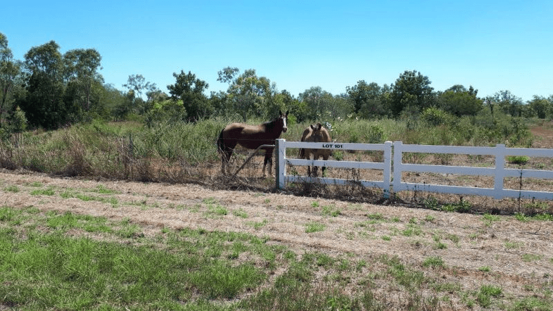
{"label": "white rail fence with LOT 101 on its top rail", "polygon": [[[553,192],[531,191],[519,189],[504,189],[504,180],[507,177],[553,179],[553,171],[536,169],[507,169],[505,167],[506,156],[529,156],[540,158],[552,158],[553,149],[527,149],[506,148],[504,144],[496,147],[456,147],[456,146],[430,146],[417,144],[403,144],[402,142],[385,142],[384,144],[350,144],[350,143],[323,143],[323,142],[286,142],[277,140],[277,188],[285,187],[286,182],[322,182],[326,184],[344,185],[350,182],[361,184],[365,187],[379,187],[383,189],[387,197],[393,189],[395,192],[404,190],[429,191],[446,194],[471,194],[479,196],[491,196],[500,198],[536,198],[539,200],[553,200]],[[384,151],[384,162],[349,162],[336,160],[302,160],[286,158],[286,148],[310,148],[310,149],[338,149],[338,150],[363,150]],[[393,151],[393,159],[392,159]],[[402,163],[403,153],[450,153],[480,156],[494,156],[495,167],[458,167],[451,165],[430,164],[406,164]],[[393,161],[392,161],[393,160]],[[326,166],[346,169],[382,169],[383,180],[342,180],[337,178],[312,178],[308,176],[288,176],[286,166],[288,164],[307,166]],[[467,176],[494,176],[493,188],[463,187],[450,185],[431,185],[426,183],[403,182],[402,173],[442,173]],[[393,182],[391,176],[393,173]]]}

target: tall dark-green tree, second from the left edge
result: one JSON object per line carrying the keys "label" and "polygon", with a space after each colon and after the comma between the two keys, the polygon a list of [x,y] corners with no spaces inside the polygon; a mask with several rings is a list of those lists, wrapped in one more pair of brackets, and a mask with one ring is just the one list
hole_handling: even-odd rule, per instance
{"label": "tall dark-green tree, second from the left edge", "polygon": [[50,41],[25,54],[26,97],[16,101],[33,126],[56,129],[67,121],[64,104],[64,64],[59,45]]}

